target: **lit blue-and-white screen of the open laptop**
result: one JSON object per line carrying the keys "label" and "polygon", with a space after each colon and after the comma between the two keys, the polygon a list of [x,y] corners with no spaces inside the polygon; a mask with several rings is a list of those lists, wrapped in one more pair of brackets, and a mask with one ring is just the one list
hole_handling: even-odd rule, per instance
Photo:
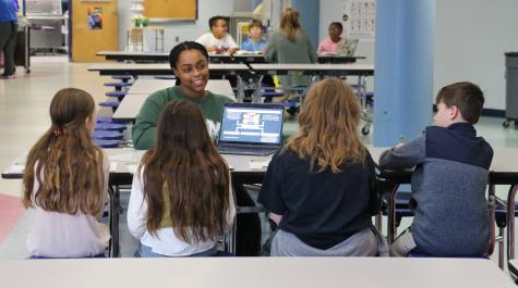
{"label": "lit blue-and-white screen of the open laptop", "polygon": [[229,103],[224,107],[220,143],[280,145],[284,107]]}

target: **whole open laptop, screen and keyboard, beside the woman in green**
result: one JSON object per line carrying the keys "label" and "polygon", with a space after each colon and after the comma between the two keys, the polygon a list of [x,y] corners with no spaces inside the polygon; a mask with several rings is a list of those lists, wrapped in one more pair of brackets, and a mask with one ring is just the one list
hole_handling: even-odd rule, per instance
{"label": "whole open laptop, screen and keyboard, beside the woman in green", "polygon": [[282,145],[285,107],[226,103],[219,130],[221,154],[267,155]]}

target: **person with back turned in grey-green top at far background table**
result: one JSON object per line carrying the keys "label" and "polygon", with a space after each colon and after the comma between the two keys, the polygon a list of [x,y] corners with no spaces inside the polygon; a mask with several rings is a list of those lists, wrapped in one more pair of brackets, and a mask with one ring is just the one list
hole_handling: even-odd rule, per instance
{"label": "person with back turned in grey-green top at far background table", "polygon": [[[288,8],[282,11],[279,30],[268,37],[264,58],[266,62],[274,63],[315,63],[317,61],[315,49],[300,25],[297,10]],[[290,75],[297,75],[297,73],[290,73]],[[279,76],[279,82],[284,87],[306,86],[308,77]]]}

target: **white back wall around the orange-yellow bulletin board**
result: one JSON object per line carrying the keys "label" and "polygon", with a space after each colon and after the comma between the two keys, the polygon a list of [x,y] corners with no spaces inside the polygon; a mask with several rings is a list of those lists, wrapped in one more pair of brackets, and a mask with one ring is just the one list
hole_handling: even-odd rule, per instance
{"label": "white back wall around the orange-yellow bulletin board", "polygon": [[[240,1],[240,0],[236,0]],[[234,0],[197,0],[197,20],[194,22],[152,23],[164,26],[165,51],[170,51],[174,45],[185,40],[195,40],[202,34],[208,32],[208,18],[214,15],[229,16],[234,8]],[[130,27],[130,0],[119,0],[119,48],[123,50],[127,42],[127,30]],[[154,33],[146,34],[147,45],[155,48]],[[177,41],[178,38],[178,41]]]}

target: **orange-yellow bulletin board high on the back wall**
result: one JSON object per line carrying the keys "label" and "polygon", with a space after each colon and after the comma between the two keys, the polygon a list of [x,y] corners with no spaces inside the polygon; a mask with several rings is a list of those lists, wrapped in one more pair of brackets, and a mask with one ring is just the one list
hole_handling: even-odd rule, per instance
{"label": "orange-yellow bulletin board high on the back wall", "polygon": [[144,0],[144,16],[152,21],[194,21],[197,0]]}

